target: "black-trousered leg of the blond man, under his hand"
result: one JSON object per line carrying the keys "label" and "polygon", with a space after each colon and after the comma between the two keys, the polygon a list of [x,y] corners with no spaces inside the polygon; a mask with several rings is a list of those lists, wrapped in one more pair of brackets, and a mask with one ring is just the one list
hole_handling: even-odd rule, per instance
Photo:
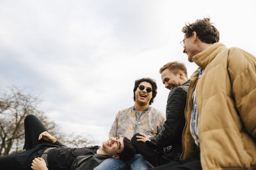
{"label": "black-trousered leg of the blond man, under his hand", "polygon": [[134,146],[134,148],[136,148],[136,151],[138,153],[143,155],[143,157],[147,159],[148,162],[150,162],[150,164],[152,164],[153,166],[159,166],[169,162],[162,157],[162,153],[156,151],[156,148],[148,146],[146,143],[143,143],[141,141],[137,141],[136,136],[140,136],[140,134],[134,134],[131,139],[132,145]]}

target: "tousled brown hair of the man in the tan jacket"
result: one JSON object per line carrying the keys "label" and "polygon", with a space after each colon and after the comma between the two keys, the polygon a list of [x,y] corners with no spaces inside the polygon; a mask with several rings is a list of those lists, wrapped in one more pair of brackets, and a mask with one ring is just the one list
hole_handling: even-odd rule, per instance
{"label": "tousled brown hair of the man in the tan jacket", "polygon": [[198,19],[192,24],[185,25],[182,32],[185,33],[186,38],[191,37],[195,31],[196,36],[204,43],[213,44],[220,41],[220,32],[212,25],[210,18]]}

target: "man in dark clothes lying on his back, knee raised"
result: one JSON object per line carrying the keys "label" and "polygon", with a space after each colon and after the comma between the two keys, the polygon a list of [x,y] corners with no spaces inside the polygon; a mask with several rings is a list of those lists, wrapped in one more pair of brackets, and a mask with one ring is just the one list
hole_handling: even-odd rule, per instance
{"label": "man in dark clothes lying on his back, knee raised", "polygon": [[136,152],[127,138],[110,138],[102,147],[68,148],[51,136],[34,115],[25,118],[24,127],[26,151],[0,157],[0,169],[93,169],[109,157],[126,160]]}

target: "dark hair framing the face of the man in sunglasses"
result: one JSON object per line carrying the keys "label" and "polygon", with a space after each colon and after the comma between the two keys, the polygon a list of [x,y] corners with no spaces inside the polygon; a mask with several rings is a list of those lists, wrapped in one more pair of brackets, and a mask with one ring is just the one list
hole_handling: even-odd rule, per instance
{"label": "dark hair framing the face of the man in sunglasses", "polygon": [[135,80],[134,88],[133,88],[133,99],[134,99],[134,101],[136,101],[135,92],[136,92],[138,86],[140,85],[140,83],[144,82],[144,81],[146,81],[152,85],[152,98],[149,101],[149,105],[150,105],[154,102],[154,98],[156,97],[156,94],[157,94],[156,81],[152,80],[151,78],[141,78],[141,79]]}

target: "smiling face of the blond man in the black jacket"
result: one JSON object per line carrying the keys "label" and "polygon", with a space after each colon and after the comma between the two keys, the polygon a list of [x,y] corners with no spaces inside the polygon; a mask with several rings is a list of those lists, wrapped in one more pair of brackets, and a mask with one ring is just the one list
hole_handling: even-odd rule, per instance
{"label": "smiling face of the blond man in the black jacket", "polygon": [[161,73],[161,78],[164,83],[164,87],[169,90],[183,84],[183,79],[180,77],[179,73],[174,74],[170,69],[164,69]]}

